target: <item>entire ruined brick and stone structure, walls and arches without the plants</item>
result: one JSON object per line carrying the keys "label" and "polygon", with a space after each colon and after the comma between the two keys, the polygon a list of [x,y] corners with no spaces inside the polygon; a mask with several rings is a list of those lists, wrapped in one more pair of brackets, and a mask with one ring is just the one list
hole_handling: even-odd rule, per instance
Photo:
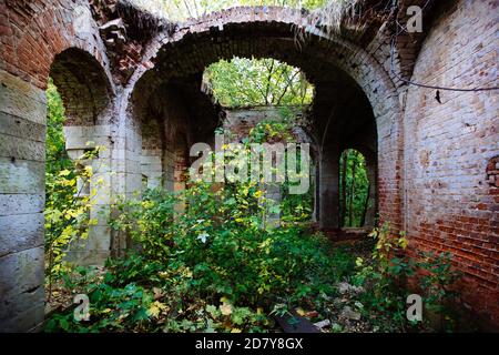
{"label": "entire ruined brick and stone structure, walls and arches without the plants", "polygon": [[[48,78],[64,101],[70,156],[88,141],[106,148],[99,223],[72,252],[99,264],[126,248],[106,226],[112,196],[183,189],[190,146],[213,143],[224,111],[203,71],[233,55],[282,60],[315,85],[304,129],[322,146],[320,227],[338,229],[339,154],[355,148],[370,165],[380,222],[407,231],[411,252],[451,252],[462,304],[499,327],[497,91],[407,84],[497,87],[499,3],[363,3],[366,16],[352,21],[364,26],[330,32],[283,8],[170,23],[120,0],[0,0],[0,329],[37,331],[44,316]],[[407,7],[425,3],[424,32],[397,33]]]}

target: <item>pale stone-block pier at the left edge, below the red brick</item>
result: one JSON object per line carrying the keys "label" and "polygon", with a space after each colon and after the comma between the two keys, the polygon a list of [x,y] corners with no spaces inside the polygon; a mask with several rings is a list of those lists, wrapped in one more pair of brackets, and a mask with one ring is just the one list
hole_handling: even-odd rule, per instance
{"label": "pale stone-block pier at the left edge, below the red brick", "polygon": [[44,91],[0,70],[0,332],[44,317],[45,122]]}

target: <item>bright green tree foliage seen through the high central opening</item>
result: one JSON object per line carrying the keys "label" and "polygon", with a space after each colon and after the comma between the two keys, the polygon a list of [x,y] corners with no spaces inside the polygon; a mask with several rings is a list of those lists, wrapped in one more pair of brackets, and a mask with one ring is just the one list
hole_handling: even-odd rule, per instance
{"label": "bright green tree foliage seen through the high central opening", "polygon": [[210,65],[205,80],[224,106],[304,105],[314,88],[296,68],[275,59],[234,58]]}

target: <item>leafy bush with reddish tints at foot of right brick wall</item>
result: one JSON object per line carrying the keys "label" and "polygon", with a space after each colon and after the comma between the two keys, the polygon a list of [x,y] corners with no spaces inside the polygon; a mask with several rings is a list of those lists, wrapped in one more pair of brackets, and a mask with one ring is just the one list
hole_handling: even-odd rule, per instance
{"label": "leafy bush with reddish tints at foot of right brick wall", "polygon": [[[354,281],[366,288],[360,302],[367,314],[378,315],[375,322],[384,331],[435,329],[440,331],[442,322],[435,325],[424,316],[424,323],[408,323],[406,300],[414,291],[407,287],[409,278],[419,285],[425,312],[437,314],[440,321],[454,326],[449,305],[455,297],[451,286],[458,274],[451,268],[451,254],[420,253],[410,257],[404,251],[408,241],[404,232],[394,234],[388,223],[370,234],[376,240],[371,260],[357,258]],[[390,322],[393,320],[394,322]]]}

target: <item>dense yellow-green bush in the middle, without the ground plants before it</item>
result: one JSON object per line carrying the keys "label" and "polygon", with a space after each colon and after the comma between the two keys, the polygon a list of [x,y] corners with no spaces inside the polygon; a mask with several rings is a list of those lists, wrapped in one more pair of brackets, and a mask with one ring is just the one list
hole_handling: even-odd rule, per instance
{"label": "dense yellow-green bush in the middle, without the ground plants before it", "polygon": [[[315,277],[317,263],[327,260],[320,237],[304,237],[297,226],[265,229],[264,197],[252,183],[212,189],[192,184],[177,199],[151,191],[141,202],[125,204],[129,214],[113,226],[129,232],[142,255],[192,271],[200,292],[236,304],[269,306],[275,297],[293,295],[296,282]],[[177,203],[187,205],[185,211],[175,212]]]}

